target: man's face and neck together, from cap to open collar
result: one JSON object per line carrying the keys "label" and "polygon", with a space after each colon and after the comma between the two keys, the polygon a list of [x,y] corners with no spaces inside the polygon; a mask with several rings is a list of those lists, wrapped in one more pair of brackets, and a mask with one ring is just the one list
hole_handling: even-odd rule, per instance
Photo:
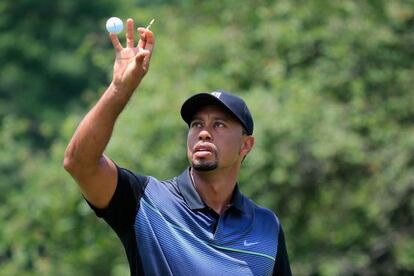
{"label": "man's face and neck together, from cap to open collar", "polygon": [[230,203],[244,157],[254,137],[244,135],[242,125],[219,106],[201,108],[187,137],[187,157],[194,185],[207,206],[221,214]]}

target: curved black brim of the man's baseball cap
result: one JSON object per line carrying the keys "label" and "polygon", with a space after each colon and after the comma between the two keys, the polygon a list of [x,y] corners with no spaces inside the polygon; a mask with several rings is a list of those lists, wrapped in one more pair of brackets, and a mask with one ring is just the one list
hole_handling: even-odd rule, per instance
{"label": "curved black brim of the man's baseball cap", "polygon": [[[235,114],[217,97],[209,94],[209,93],[199,93],[190,98],[188,98],[181,107],[181,117],[190,125],[191,120],[193,119],[194,115],[200,110],[201,107],[207,105],[219,105],[226,109],[230,114]],[[237,116],[235,116],[237,118]]]}

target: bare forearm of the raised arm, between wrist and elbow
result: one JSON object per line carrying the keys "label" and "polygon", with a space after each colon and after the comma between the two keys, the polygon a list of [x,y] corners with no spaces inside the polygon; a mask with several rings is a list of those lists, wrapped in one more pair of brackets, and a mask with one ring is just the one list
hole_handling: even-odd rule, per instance
{"label": "bare forearm of the raised arm, between wrist and elbow", "polygon": [[79,124],[65,152],[65,168],[72,174],[98,169],[115,122],[133,91],[119,91],[111,84]]}

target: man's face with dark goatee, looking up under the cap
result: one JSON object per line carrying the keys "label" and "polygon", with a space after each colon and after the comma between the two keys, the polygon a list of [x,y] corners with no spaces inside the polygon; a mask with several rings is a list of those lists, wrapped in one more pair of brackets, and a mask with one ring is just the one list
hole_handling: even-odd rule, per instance
{"label": "man's face with dark goatee, looking up under the cap", "polygon": [[240,122],[220,106],[201,108],[191,121],[187,156],[195,170],[240,166],[252,146],[253,137],[243,135]]}

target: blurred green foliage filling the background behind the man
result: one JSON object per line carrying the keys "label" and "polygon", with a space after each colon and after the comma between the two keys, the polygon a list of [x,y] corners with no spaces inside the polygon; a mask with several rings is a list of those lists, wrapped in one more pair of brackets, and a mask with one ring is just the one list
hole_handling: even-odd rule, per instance
{"label": "blurred green foliage filling the background behind the man", "polygon": [[234,91],[257,141],[240,186],[278,214],[294,274],[414,273],[413,1],[6,0],[0,12],[0,275],[129,273],[62,167],[110,82],[110,16],[156,19],[150,72],[107,149],[119,165],[177,175],[183,100]]}

